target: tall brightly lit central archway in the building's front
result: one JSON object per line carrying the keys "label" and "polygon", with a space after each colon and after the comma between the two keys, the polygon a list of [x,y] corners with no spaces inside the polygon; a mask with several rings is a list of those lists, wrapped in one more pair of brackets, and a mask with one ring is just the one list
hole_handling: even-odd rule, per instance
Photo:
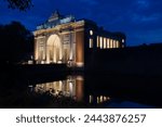
{"label": "tall brightly lit central archway in the building's front", "polygon": [[51,35],[46,41],[46,63],[58,63],[62,59],[60,39],[57,35]]}

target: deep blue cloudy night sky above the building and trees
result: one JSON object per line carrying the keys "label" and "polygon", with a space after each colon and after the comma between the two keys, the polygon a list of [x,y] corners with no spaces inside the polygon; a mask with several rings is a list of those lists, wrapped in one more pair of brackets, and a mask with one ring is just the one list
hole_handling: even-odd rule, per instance
{"label": "deep blue cloudy night sky above the building and trees", "polygon": [[123,31],[127,45],[162,42],[162,0],[32,0],[27,12],[0,2],[0,24],[22,22],[28,29],[43,23],[55,10],[64,15],[89,18],[110,31]]}

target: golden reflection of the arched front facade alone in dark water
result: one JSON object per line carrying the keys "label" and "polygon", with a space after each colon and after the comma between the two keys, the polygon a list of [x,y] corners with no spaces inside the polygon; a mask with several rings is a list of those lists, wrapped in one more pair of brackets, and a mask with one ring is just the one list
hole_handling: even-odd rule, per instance
{"label": "golden reflection of the arched front facade alone in dark water", "polygon": [[72,97],[77,101],[83,99],[83,77],[68,76],[66,80],[38,84],[35,91],[39,93],[49,92],[53,96]]}

